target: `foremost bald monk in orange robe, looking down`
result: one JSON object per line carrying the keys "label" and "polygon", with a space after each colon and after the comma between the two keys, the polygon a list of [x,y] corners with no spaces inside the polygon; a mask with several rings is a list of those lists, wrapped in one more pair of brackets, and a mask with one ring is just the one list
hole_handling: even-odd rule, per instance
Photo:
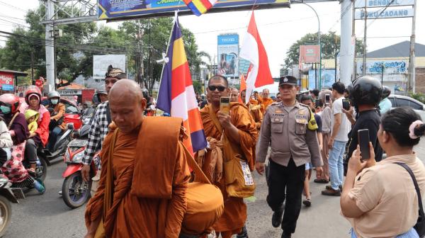
{"label": "foremost bald monk in orange robe, looking down", "polygon": [[[115,124],[111,123],[103,142],[98,190],[86,207],[86,238],[94,237],[101,220],[106,237],[177,238],[186,212],[190,179],[184,147],[179,140],[181,119],[143,118],[146,100],[140,86],[128,79],[116,82],[109,98]],[[159,122],[153,120],[164,121],[158,126]],[[155,126],[149,126],[152,124]],[[161,135],[149,135],[153,130]],[[111,155],[109,149],[115,132],[118,134]],[[161,147],[154,145],[158,143],[156,136],[161,137]],[[113,199],[104,212],[103,205],[111,198],[105,198],[110,159],[113,159],[109,164],[113,190],[109,194],[113,194]]]}

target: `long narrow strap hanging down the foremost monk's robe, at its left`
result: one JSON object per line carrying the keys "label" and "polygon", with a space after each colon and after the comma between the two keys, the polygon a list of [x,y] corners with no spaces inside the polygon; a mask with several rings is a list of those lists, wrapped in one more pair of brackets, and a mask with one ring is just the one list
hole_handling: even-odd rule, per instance
{"label": "long narrow strap hanging down the foremost monk's robe, at its left", "polygon": [[106,165],[105,194],[103,195],[103,220],[106,220],[106,212],[111,208],[113,202],[113,149],[115,148],[118,130],[119,129],[116,128],[113,132],[111,144],[109,145],[108,164]]}

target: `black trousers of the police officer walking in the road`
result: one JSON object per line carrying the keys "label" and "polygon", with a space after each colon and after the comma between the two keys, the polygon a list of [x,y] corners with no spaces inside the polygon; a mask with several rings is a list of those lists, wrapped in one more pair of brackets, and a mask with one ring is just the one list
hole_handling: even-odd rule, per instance
{"label": "black trousers of the police officer walking in the road", "polygon": [[[291,158],[287,167],[270,160],[270,185],[267,203],[271,210],[277,211],[286,197],[282,229],[294,233],[301,210],[302,189],[305,180],[305,165],[295,166]],[[286,195],[285,195],[286,192]]]}

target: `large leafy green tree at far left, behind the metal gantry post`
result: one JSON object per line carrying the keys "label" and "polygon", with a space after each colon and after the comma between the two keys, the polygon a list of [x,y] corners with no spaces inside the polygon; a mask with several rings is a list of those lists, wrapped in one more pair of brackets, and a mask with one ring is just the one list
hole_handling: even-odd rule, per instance
{"label": "large leafy green tree at far left, behind the metal gantry post", "polygon": [[[31,67],[30,59],[33,54],[35,78],[45,77],[45,44],[52,45],[53,42],[45,42],[45,26],[40,23],[42,15],[42,8],[28,11],[26,23],[29,28],[15,28],[13,35],[9,35],[6,46],[2,49],[0,67],[25,71]],[[80,65],[81,61],[76,56],[96,50],[85,45],[97,32],[96,23],[76,23],[57,28],[63,31],[62,37],[55,40],[57,77],[72,81],[80,74],[91,75],[86,67]]]}

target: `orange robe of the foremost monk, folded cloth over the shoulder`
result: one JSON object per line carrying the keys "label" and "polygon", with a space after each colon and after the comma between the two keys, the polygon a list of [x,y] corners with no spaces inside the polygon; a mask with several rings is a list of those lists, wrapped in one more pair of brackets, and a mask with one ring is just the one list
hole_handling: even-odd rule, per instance
{"label": "orange robe of the foremost monk, folded cloth over the shoulder", "polygon": [[[113,130],[115,128],[111,127],[111,132],[103,142],[101,180],[96,195],[86,207],[87,227],[103,215],[108,150]],[[118,132],[113,152],[113,205],[107,212],[106,220],[103,220],[106,237],[177,238],[186,212],[186,189],[190,179],[183,144],[179,140],[161,141],[163,147],[176,148],[176,156],[166,159],[166,152],[162,154],[157,149],[141,151],[137,141],[142,137],[149,137],[145,140],[147,144],[155,141],[155,135],[143,135],[139,130],[130,134]],[[142,167],[137,166],[139,162],[142,162]],[[146,167],[152,173],[145,172]],[[143,177],[146,179],[141,179]],[[152,178],[157,178],[157,183],[147,184],[152,183]],[[140,190],[133,191],[137,190],[135,188],[142,188],[145,194],[149,194],[149,198],[135,195],[137,192],[140,194]],[[159,198],[152,196],[152,193],[157,194],[156,191],[162,193],[167,190],[169,198],[164,198],[164,193],[159,194]]]}

